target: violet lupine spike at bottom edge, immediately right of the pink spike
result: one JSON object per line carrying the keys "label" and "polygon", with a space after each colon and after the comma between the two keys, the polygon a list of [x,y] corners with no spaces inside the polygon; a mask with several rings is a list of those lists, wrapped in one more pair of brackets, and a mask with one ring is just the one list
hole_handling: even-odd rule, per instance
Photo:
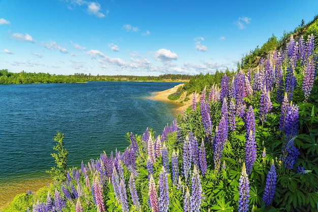
{"label": "violet lupine spike at bottom edge, immediately right of the pink spike", "polygon": [[168,212],[169,209],[169,191],[168,191],[168,173],[163,166],[159,174],[159,211]]}

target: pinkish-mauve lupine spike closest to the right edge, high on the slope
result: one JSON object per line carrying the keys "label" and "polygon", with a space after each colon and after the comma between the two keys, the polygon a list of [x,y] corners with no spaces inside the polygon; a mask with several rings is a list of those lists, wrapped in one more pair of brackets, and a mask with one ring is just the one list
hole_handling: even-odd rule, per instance
{"label": "pinkish-mauve lupine spike closest to the right edge, high on the slope", "polygon": [[308,97],[310,95],[310,92],[313,86],[313,81],[315,78],[314,75],[315,75],[315,70],[314,70],[313,59],[309,58],[307,65],[305,67],[303,87],[302,87],[302,90],[304,91],[304,95],[305,95],[305,101],[308,100]]}

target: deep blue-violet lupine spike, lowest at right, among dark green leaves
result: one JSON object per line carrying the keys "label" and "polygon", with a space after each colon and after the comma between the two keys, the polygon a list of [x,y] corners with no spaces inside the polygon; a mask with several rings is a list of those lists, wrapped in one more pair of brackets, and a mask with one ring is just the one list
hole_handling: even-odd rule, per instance
{"label": "deep blue-violet lupine spike, lowest at right, among dark green leaves", "polygon": [[274,198],[275,188],[276,188],[276,170],[274,160],[272,160],[271,168],[268,171],[266,184],[265,184],[265,191],[263,195],[263,200],[266,206],[269,206]]}

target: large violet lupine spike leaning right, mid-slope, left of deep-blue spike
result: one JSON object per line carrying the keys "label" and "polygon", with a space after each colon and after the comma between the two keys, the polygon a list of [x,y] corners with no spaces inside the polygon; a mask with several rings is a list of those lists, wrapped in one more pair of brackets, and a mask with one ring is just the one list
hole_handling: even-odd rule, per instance
{"label": "large violet lupine spike leaning right, mid-slope, left of deep-blue spike", "polygon": [[218,127],[215,129],[215,135],[213,140],[213,161],[214,161],[214,168],[216,171],[219,171],[222,154],[224,145],[228,139],[228,129],[229,125],[228,122],[225,119],[225,116],[221,117],[221,120],[218,124]]}

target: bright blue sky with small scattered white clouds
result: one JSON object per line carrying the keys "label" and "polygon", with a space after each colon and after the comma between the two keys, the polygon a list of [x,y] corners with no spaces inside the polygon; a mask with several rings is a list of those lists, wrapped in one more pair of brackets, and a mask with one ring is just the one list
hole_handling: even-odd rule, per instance
{"label": "bright blue sky with small scattered white clouds", "polygon": [[0,0],[0,69],[214,73],[317,14],[316,0]]}

